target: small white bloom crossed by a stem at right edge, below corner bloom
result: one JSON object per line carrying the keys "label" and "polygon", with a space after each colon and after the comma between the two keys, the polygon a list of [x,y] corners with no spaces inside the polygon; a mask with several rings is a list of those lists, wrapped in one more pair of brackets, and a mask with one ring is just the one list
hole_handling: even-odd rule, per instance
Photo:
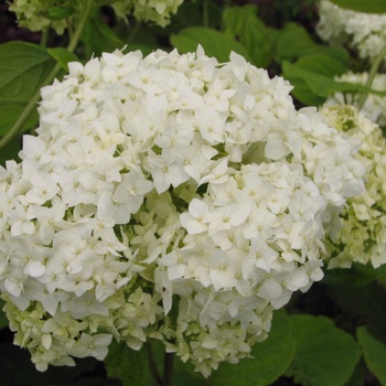
{"label": "small white bloom crossed by a stem at right edge, below corner bloom", "polygon": [[[356,85],[365,85],[368,78],[368,73],[353,73],[349,72],[341,76],[336,76],[336,82],[347,82]],[[378,73],[375,75],[372,88],[375,90],[384,92],[386,89],[386,74]],[[354,105],[360,101],[361,94],[336,93],[329,97],[325,104],[334,105]],[[362,111],[373,121],[380,127],[386,127],[386,97],[376,94],[368,94],[366,101],[362,108]]]}

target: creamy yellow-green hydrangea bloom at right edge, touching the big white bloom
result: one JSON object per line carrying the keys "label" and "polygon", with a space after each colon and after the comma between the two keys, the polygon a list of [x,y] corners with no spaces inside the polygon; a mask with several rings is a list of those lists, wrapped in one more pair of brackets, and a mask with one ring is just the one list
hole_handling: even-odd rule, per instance
{"label": "creamy yellow-green hydrangea bloom at right edge, touching the big white bloom", "polygon": [[353,106],[324,106],[330,125],[362,141],[356,156],[366,165],[366,191],[347,200],[341,229],[329,246],[329,267],[353,261],[378,268],[386,262],[386,142],[380,128]]}

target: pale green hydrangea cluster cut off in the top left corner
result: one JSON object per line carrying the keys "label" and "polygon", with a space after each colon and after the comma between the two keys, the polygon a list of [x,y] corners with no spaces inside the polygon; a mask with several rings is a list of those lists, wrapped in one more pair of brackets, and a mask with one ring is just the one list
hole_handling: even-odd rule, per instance
{"label": "pale green hydrangea cluster cut off in the top left corner", "polygon": [[[67,29],[67,21],[65,19],[51,20],[47,18],[49,10],[53,6],[53,1],[46,0],[13,0],[10,2],[9,10],[17,14],[20,26],[33,32],[43,31],[46,26],[51,26],[61,35]],[[55,6],[72,7],[74,1],[55,1]]]}

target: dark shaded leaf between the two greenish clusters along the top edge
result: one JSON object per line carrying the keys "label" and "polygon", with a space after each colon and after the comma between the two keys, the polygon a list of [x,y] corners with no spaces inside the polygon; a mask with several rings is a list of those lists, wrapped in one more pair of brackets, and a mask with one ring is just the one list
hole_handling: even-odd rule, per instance
{"label": "dark shaded leaf between the two greenish clusters along the top edge", "polygon": [[99,15],[89,17],[82,31],[82,41],[85,43],[86,56],[100,56],[103,52],[124,49],[124,42],[105,24]]}

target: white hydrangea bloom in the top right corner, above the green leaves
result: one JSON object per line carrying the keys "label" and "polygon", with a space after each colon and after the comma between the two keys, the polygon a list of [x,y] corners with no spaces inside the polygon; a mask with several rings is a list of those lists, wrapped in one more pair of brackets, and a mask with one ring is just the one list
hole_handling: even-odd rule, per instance
{"label": "white hydrangea bloom in the top right corner, above the green leaves", "polygon": [[349,44],[373,61],[386,44],[386,14],[355,12],[329,0],[319,3],[317,33],[331,44]]}

